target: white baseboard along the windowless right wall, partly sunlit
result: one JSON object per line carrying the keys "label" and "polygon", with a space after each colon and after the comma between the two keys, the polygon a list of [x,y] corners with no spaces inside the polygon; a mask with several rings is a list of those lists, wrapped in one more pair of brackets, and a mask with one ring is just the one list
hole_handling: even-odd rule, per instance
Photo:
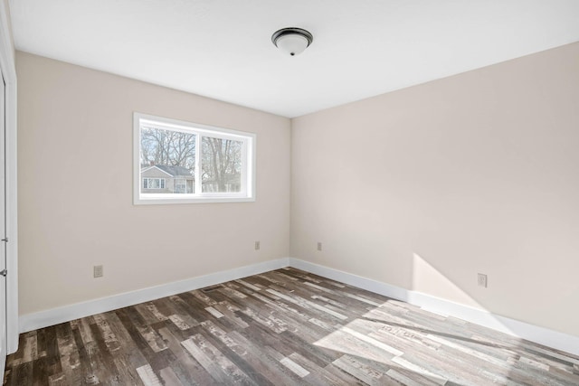
{"label": "white baseboard along the windowless right wall, partly sunlit", "polygon": [[350,286],[362,288],[383,295],[384,297],[402,300],[414,306],[420,306],[422,309],[435,314],[451,315],[466,320],[467,322],[483,325],[502,333],[526,339],[527,341],[544,344],[557,350],[579,355],[579,336],[559,333],[537,325],[530,325],[506,316],[489,313],[489,311],[483,309],[464,306],[440,297],[432,297],[422,292],[392,286],[371,278],[363,278],[300,259],[289,258],[289,266],[308,271],[324,278],[331,278],[349,284]]}

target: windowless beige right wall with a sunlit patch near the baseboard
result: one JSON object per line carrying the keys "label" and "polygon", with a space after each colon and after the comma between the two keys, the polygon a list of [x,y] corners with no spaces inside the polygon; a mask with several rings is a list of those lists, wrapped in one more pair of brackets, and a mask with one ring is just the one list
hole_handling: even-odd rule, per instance
{"label": "windowless beige right wall with a sunlit patch near the baseboard", "polygon": [[292,257],[579,335],[579,43],[296,118],[291,159]]}

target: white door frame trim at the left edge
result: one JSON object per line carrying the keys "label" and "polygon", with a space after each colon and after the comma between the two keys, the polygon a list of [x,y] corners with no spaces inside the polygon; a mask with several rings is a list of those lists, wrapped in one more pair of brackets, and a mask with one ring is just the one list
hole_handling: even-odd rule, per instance
{"label": "white door frame trim at the left edge", "polygon": [[18,202],[16,169],[16,66],[7,0],[0,0],[0,69],[5,80],[6,353],[18,349]]}

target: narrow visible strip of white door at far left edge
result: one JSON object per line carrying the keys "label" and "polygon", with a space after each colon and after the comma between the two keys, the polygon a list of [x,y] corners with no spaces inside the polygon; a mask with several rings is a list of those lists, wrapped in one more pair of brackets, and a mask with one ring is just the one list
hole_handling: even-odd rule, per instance
{"label": "narrow visible strip of white door at far left edge", "polygon": [[0,71],[0,374],[6,362],[6,169],[5,169],[5,83]]}

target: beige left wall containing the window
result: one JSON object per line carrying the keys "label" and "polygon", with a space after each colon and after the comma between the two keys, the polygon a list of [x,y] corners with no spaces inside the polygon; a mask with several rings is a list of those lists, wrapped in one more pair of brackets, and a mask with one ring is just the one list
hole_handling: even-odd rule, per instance
{"label": "beige left wall containing the window", "polygon": [[[23,52],[16,65],[21,315],[288,256],[289,119]],[[257,201],[134,206],[133,111],[256,133]]]}

